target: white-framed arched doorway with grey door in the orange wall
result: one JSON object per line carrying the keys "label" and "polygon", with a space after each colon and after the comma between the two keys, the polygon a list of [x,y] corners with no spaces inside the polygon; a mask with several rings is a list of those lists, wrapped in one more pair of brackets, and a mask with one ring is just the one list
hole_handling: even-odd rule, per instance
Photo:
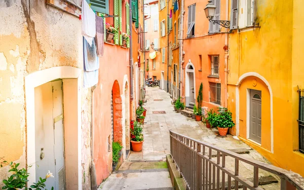
{"label": "white-framed arched doorway with grey door in the orange wall", "polygon": [[185,98],[186,106],[194,107],[195,105],[195,69],[194,65],[189,62],[186,65],[186,74],[185,74]]}

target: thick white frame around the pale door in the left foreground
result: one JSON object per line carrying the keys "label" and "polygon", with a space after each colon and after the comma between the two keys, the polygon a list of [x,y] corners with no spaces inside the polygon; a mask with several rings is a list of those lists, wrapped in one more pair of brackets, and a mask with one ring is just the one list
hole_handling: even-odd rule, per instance
{"label": "thick white frame around the pale door in the left foreground", "polygon": [[65,160],[69,160],[65,163],[66,189],[82,188],[80,76],[79,68],[58,66],[36,71],[25,77],[27,165],[32,165],[28,170],[31,174],[28,177],[28,184],[36,182],[34,88],[56,79],[63,79],[64,129],[65,134],[68,134],[64,136]]}

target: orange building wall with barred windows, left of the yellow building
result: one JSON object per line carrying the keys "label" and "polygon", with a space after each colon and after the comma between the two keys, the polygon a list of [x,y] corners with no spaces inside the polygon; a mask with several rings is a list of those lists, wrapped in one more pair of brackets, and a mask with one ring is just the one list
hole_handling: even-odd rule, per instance
{"label": "orange building wall with barred windows, left of the yellow building", "polygon": [[[226,105],[225,100],[225,33],[215,33],[208,34],[209,31],[209,21],[205,17],[204,8],[208,4],[207,0],[196,1],[188,0],[184,2],[184,22],[183,22],[183,51],[184,63],[183,63],[183,74],[184,74],[184,84],[182,89],[182,96],[185,98],[185,86],[187,81],[185,81],[185,67],[187,63],[191,62],[194,65],[195,70],[195,99],[198,95],[200,84],[203,83],[203,106],[208,108],[213,108],[217,110],[218,104],[211,103],[209,96],[209,82],[221,83],[221,106]],[[195,22],[195,36],[187,38],[187,20],[188,20],[188,6],[196,4],[196,22]],[[225,18],[225,7],[226,2],[221,1],[220,8],[220,19],[224,20]],[[226,29],[222,27],[221,31]],[[200,65],[199,55],[202,56],[202,65]],[[208,75],[211,74],[211,59],[208,55],[219,55],[219,77],[211,78]],[[200,70],[201,68],[201,70]]]}

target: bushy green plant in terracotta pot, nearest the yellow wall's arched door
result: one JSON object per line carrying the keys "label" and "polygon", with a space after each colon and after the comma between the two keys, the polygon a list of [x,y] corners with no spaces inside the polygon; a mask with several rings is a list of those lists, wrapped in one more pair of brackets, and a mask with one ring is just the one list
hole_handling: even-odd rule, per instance
{"label": "bushy green plant in terracotta pot, nearest the yellow wall's arched door", "polygon": [[228,129],[235,126],[232,120],[232,112],[227,108],[219,108],[218,112],[214,118],[214,124],[217,126],[219,135],[226,136]]}

